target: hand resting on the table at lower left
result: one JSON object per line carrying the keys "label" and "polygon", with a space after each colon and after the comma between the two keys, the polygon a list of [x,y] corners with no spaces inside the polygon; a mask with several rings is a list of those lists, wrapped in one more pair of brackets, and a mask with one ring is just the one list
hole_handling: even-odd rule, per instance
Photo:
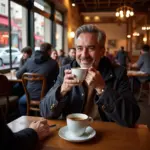
{"label": "hand resting on the table at lower left", "polygon": [[46,119],[34,121],[30,124],[29,128],[35,130],[39,137],[39,140],[43,140],[50,135],[49,126]]}

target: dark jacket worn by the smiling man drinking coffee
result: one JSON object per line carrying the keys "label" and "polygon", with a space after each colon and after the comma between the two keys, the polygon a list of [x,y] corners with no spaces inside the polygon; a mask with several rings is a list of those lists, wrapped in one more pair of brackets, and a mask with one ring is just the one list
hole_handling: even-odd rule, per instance
{"label": "dark jacket worn by the smiling man drinking coffee", "polygon": [[[58,118],[60,115],[66,117],[70,113],[83,112],[87,95],[83,85],[73,87],[61,99],[59,93],[64,70],[77,66],[78,64],[74,61],[61,68],[55,85],[41,101],[40,112],[43,117]],[[133,127],[139,118],[140,109],[131,93],[126,69],[121,66],[113,66],[108,58],[103,57],[98,70],[106,84],[103,94],[101,96],[95,94],[93,98],[98,105],[101,119]]]}

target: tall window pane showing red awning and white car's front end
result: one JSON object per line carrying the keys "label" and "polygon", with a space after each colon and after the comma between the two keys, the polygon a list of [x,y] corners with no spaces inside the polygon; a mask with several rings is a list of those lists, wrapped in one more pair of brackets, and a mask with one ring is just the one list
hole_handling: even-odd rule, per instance
{"label": "tall window pane showing red awning and white car's front end", "polygon": [[14,2],[11,2],[11,36],[12,63],[13,67],[18,67],[22,56],[20,50],[27,46],[27,10]]}

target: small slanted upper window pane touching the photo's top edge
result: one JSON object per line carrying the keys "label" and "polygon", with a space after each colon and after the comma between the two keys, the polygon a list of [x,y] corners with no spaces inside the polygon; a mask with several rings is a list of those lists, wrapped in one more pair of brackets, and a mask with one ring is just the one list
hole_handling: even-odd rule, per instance
{"label": "small slanted upper window pane touching the photo's top edge", "polygon": [[51,13],[51,7],[48,5],[48,3],[44,2],[43,0],[35,0],[34,6],[47,13]]}

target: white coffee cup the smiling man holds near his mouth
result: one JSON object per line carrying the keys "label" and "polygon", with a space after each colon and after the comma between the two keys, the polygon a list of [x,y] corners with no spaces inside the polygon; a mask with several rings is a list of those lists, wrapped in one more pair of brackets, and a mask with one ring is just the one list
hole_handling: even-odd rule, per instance
{"label": "white coffee cup the smiling man holds near his mouth", "polygon": [[79,81],[83,81],[87,75],[87,68],[71,68],[72,74],[74,74]]}

